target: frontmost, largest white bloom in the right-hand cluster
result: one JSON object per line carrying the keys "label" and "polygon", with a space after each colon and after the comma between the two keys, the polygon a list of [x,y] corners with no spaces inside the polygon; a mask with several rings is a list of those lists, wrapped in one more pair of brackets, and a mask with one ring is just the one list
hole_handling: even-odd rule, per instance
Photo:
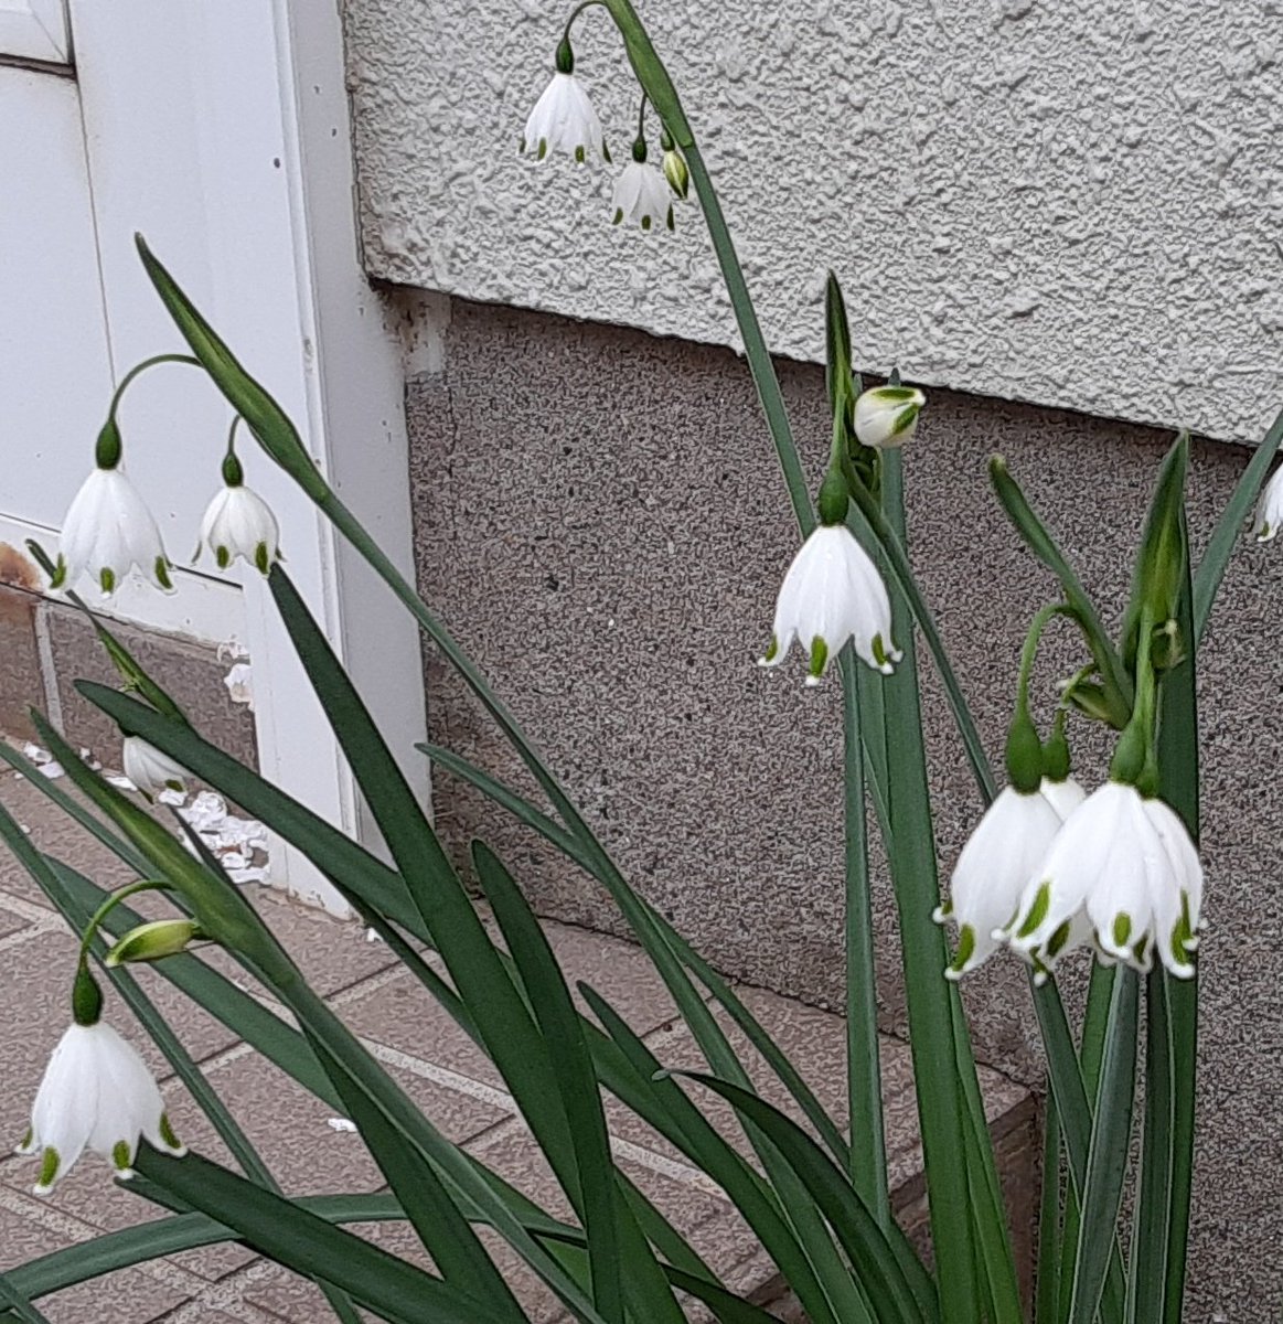
{"label": "frontmost, largest white bloom in the right-hand cluster", "polygon": [[1002,936],[1030,959],[1055,960],[1086,914],[1108,957],[1148,970],[1157,953],[1188,978],[1201,906],[1202,865],[1185,825],[1161,800],[1110,781],[1065,821]]}

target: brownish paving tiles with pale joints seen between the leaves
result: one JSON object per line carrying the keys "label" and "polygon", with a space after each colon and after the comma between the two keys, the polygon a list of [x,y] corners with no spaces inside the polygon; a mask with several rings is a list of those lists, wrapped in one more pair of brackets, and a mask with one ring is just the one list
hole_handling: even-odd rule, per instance
{"label": "brownish paving tiles with pale joints seen between the leaves", "polygon": [[[29,826],[44,850],[103,886],[128,880],[110,855],[62,821],[28,782],[9,772],[0,773],[0,800]],[[564,1214],[551,1176],[515,1116],[497,1072],[400,970],[388,949],[367,941],[356,924],[305,910],[261,887],[252,887],[252,894],[331,1006],[404,1082],[437,1125],[549,1210]],[[549,925],[549,933],[572,985],[575,980],[587,980],[601,989],[633,1027],[645,1033],[662,1062],[702,1064],[685,1026],[674,1019],[662,984],[637,948],[561,924]],[[73,939],[34,884],[0,849],[0,1078],[5,1082],[0,1091],[0,1136],[17,1140],[25,1129],[49,1050],[66,1025],[73,959]],[[220,968],[232,970],[230,965]],[[148,988],[162,989],[158,1001],[171,1023],[286,1192],[356,1192],[380,1186],[360,1137],[335,1129],[328,1107],[233,1039],[199,1008],[163,989],[154,972],[144,970],[143,980]],[[793,1055],[821,1100],[839,1108],[845,1090],[842,1022],[772,993],[756,989],[741,993]],[[123,1031],[136,1034],[142,1045],[142,1031],[127,1023],[127,1013],[114,998],[109,1016]],[[918,1223],[920,1157],[907,1046],[887,1038],[883,1067],[896,1205],[907,1223]],[[1009,1200],[1027,1214],[1026,1206],[1031,1207],[1029,1202],[1035,1198],[1031,1100],[994,1072],[985,1072],[984,1084],[990,1119],[1001,1137],[1000,1160]],[[180,1136],[193,1148],[218,1157],[220,1148],[191,1099],[172,1080],[164,1088]],[[763,1090],[771,1094],[765,1080]],[[716,1115],[726,1121],[724,1110]],[[616,1152],[628,1172],[692,1238],[728,1286],[763,1290],[769,1300],[771,1264],[756,1251],[718,1188],[618,1106],[610,1106],[610,1116]],[[0,1267],[158,1213],[127,1189],[114,1186],[97,1156],[81,1160],[48,1200],[30,1194],[33,1180],[32,1160],[13,1156],[0,1161]],[[404,1225],[355,1230],[389,1249],[409,1250],[413,1245]],[[498,1258],[511,1268],[532,1320],[560,1317],[548,1294],[502,1247]],[[327,1317],[311,1284],[238,1246],[156,1260],[117,1275],[106,1284],[106,1294],[103,1284],[83,1284],[38,1304],[52,1324],[99,1324],[109,1317],[113,1324],[152,1320],[311,1324]]]}

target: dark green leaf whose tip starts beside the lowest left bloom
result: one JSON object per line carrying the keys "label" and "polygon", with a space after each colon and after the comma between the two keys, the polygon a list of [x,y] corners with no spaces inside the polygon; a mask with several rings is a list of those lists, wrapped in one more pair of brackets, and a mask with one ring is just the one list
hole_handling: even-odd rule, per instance
{"label": "dark green leaf whose tip starts beside the lowest left bloom", "polygon": [[171,1158],[143,1147],[135,1166],[192,1209],[233,1229],[254,1250],[342,1287],[387,1320],[504,1324],[508,1319],[489,1303],[199,1155]]}

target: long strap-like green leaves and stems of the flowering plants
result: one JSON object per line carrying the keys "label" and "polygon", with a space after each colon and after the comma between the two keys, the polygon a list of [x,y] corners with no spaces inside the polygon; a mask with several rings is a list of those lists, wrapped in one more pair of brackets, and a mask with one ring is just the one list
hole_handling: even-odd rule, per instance
{"label": "long strap-like green leaves and stems of the flowering plants", "polygon": [[[637,77],[689,163],[792,514],[805,536],[814,524],[814,510],[804,467],[694,131],[632,5],[605,0],[605,8],[624,36]],[[148,948],[159,956],[158,972],[327,1106],[352,1117],[389,1193],[316,1200],[279,1189],[127,965],[106,961],[113,944],[144,922],[127,904],[115,904],[87,941],[89,956],[191,1090],[241,1170],[201,1156],[166,1157],[144,1147],[135,1189],[173,1210],[172,1217],[0,1274],[0,1319],[40,1324],[44,1316],[33,1301],[50,1292],[155,1255],[237,1241],[312,1278],[343,1324],[355,1324],[357,1307],[395,1324],[519,1321],[526,1317],[523,1308],[481,1237],[489,1229],[587,1324],[679,1324],[689,1317],[690,1299],[702,1301],[723,1324],[769,1324],[772,1316],[720,1282],[666,1213],[616,1164],[605,1092],[726,1192],[812,1324],[1020,1324],[1026,1303],[1020,1294],[976,1062],[959,992],[943,977],[948,963],[944,935],[932,920],[940,903],[940,878],[915,630],[940,677],[980,808],[994,798],[998,785],[914,575],[902,455],[894,449],[867,454],[855,449],[851,409],[859,379],[835,278],[829,279],[825,310],[834,450],[821,512],[829,522],[846,519],[887,576],[894,638],[904,650],[899,669],[886,679],[858,670],[849,646],[839,658],[850,1084],[845,1117],[825,1111],[730,984],[637,894],[515,715],[324,482],[277,401],[246,372],[140,238],[139,253],[209,380],[265,453],[299,483],[412,614],[520,757],[542,800],[518,793],[454,751],[426,747],[425,752],[440,771],[466,780],[498,809],[540,833],[609,894],[662,977],[707,1070],[686,1072],[692,1088],[683,1087],[591,988],[580,993],[594,1018],[581,1013],[520,878],[485,842],[474,842],[475,875],[499,937],[491,933],[361,695],[279,565],[269,576],[274,606],[391,862],[205,740],[95,620],[103,646],[132,692],[81,683],[83,696],[122,731],[150,741],[307,854],[494,1063],[571,1214],[553,1218],[442,1135],[307,985],[199,839],[184,845],[37,718],[42,739],[81,797],[32,776],[34,769],[16,751],[0,745],[0,757],[25,772],[33,786],[140,879],[172,888],[180,911],[177,928],[166,931],[168,940],[162,947]],[[1000,457],[990,463],[1001,506],[1059,585],[1063,602],[1046,613],[1067,616],[1082,637],[1084,665],[1066,702],[1141,741],[1141,755],[1156,767],[1163,798],[1184,817],[1194,839],[1200,812],[1197,641],[1237,527],[1280,442],[1283,417],[1249,466],[1196,571],[1184,504],[1189,441],[1185,436],[1177,440],[1157,478],[1117,641],[1106,633],[1100,612],[1005,463]],[[1166,629],[1168,621],[1174,621],[1174,628]],[[1151,630],[1151,624],[1164,632]],[[1030,649],[1021,667],[1022,696],[1031,661]],[[1143,710],[1141,700],[1155,692],[1155,685],[1156,731],[1155,723],[1137,720],[1135,711]],[[1025,708],[1021,715],[1008,761],[1021,789],[1033,793],[1043,747]],[[1054,739],[1063,733],[1061,727],[1057,732]],[[1055,761],[1067,769],[1067,745],[1063,751],[1057,745]],[[878,1062],[870,805],[899,918],[931,1215],[929,1263],[902,1233],[890,1207]],[[0,838],[73,928],[83,931],[103,911],[109,894],[58,859],[42,855],[3,806]],[[173,935],[189,932],[192,925],[217,941],[285,1006],[293,1023],[265,1010],[195,952],[179,949],[184,944]],[[425,949],[432,959],[425,957]],[[1103,1324],[1178,1324],[1181,1319],[1197,981],[1174,980],[1161,967],[1147,976],[1143,1157],[1129,1263],[1124,1267],[1119,1222],[1133,1139],[1139,997],[1136,972],[1098,968],[1075,1045],[1054,981],[1034,988],[1050,1088],[1035,1324],[1091,1324],[1098,1319]],[[727,1022],[743,1034],[751,1051],[736,1047]],[[783,1086],[801,1121],[763,1098],[768,1083]],[[747,1143],[732,1141],[714,1125],[704,1108],[708,1095],[731,1106]],[[432,1270],[393,1256],[343,1227],[379,1219],[409,1227],[430,1256]]]}

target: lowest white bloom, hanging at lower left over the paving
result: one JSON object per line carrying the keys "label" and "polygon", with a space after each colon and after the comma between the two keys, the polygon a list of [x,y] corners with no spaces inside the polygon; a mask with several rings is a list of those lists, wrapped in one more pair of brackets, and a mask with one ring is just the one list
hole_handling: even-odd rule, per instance
{"label": "lowest white bloom, hanging at lower left over the paving", "polygon": [[164,1100],[136,1049],[110,1025],[73,1025],[53,1050],[17,1152],[41,1155],[37,1196],[46,1196],[86,1151],[102,1155],[118,1177],[134,1176],[140,1136],[181,1157]]}

